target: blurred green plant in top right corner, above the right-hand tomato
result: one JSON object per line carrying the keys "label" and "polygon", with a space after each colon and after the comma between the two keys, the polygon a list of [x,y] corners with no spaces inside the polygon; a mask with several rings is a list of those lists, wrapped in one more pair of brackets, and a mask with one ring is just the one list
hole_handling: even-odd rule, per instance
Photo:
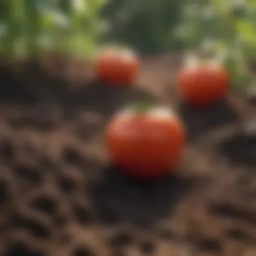
{"label": "blurred green plant in top right corner, above the right-hand tomato", "polygon": [[230,82],[239,89],[255,84],[251,63],[256,58],[255,0],[187,1],[181,24],[174,30],[194,51],[207,45],[230,73]]}

